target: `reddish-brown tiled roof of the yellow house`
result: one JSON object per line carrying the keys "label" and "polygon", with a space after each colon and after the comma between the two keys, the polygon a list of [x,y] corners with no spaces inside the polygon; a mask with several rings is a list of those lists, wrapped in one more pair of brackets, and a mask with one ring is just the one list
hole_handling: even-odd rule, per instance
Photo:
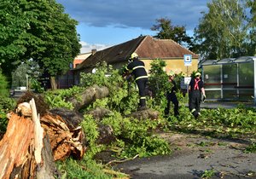
{"label": "reddish-brown tiled roof of the yellow house", "polygon": [[133,52],[136,52],[140,59],[183,58],[183,55],[192,55],[193,58],[198,58],[198,55],[173,40],[140,36],[108,49],[96,51],[94,55],[90,55],[76,69],[94,67],[100,61],[106,61],[108,64],[127,61]]}

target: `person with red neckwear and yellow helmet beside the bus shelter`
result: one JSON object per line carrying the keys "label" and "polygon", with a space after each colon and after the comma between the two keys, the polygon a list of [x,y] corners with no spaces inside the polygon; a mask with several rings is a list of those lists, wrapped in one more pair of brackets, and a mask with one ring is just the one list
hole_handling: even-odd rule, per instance
{"label": "person with red neckwear and yellow helmet beside the bus shelter", "polygon": [[192,78],[189,83],[189,110],[195,118],[197,118],[201,114],[201,95],[203,95],[204,101],[206,99],[204,83],[201,80],[201,73],[196,72],[195,78]]}

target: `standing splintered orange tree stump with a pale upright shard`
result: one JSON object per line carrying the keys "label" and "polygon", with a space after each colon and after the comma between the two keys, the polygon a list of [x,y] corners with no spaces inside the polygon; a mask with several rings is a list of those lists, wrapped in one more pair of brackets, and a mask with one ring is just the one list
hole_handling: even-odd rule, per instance
{"label": "standing splintered orange tree stump with a pale upright shard", "polygon": [[0,153],[0,178],[50,179],[57,176],[49,140],[40,125],[33,99],[30,104],[18,107],[17,113],[9,113]]}

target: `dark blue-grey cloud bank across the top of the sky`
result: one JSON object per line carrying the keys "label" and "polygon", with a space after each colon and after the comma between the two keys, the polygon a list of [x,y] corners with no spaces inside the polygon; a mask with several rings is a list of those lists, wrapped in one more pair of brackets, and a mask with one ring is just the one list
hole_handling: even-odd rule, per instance
{"label": "dark blue-grey cloud bank across the top of the sky", "polygon": [[168,18],[174,26],[194,29],[211,0],[57,0],[67,14],[90,26],[140,27],[150,29],[156,19]]}

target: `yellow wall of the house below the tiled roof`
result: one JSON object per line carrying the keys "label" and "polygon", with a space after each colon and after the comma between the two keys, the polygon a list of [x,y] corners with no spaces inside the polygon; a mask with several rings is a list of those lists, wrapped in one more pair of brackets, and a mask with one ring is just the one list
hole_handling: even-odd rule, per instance
{"label": "yellow wall of the house below the tiled roof", "polygon": [[[150,63],[153,60],[141,60],[141,61],[145,63],[145,67],[148,72],[148,70],[150,69]],[[198,66],[198,59],[192,60],[192,66],[185,66],[183,59],[163,60],[163,61],[166,61],[166,72],[170,72],[171,70],[176,74],[183,72],[185,76],[190,76],[190,74],[193,71],[197,70],[197,66]]]}

